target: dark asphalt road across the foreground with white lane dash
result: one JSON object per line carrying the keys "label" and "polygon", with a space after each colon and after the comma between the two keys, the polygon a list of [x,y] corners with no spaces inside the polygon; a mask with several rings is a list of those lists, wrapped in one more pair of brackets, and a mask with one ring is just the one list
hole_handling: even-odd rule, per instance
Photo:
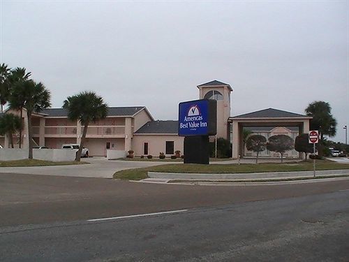
{"label": "dark asphalt road across the foreground with white lane dash", "polygon": [[1,174],[0,261],[349,261],[348,189]]}

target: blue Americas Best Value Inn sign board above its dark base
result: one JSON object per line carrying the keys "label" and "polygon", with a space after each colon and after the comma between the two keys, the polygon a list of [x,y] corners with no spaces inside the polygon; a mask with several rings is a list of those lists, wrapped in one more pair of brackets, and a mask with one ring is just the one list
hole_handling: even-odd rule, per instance
{"label": "blue Americas Best Value Inn sign board above its dark base", "polygon": [[216,130],[216,100],[201,99],[179,103],[179,136],[214,136]]}

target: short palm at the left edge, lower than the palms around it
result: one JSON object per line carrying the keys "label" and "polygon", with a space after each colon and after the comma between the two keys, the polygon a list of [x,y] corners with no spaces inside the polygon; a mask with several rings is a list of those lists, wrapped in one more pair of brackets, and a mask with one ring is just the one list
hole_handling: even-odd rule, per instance
{"label": "short palm at the left edge, lower than the palms around it", "polygon": [[11,113],[3,114],[0,117],[0,135],[8,135],[10,138],[10,144],[13,148],[13,134],[23,129],[22,119],[17,115]]}

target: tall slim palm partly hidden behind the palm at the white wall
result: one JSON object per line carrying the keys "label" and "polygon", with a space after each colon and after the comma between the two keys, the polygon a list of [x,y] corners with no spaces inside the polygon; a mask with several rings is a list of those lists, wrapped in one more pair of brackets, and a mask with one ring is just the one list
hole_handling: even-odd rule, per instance
{"label": "tall slim palm partly hidden behind the palm at the white wall", "polygon": [[[8,83],[10,85],[10,94],[8,96],[8,102],[10,108],[20,111],[20,118],[23,118],[24,108],[24,82],[29,80],[31,72],[27,73],[24,67],[17,67],[10,71],[8,75]],[[16,88],[16,94],[13,94],[12,90]],[[20,148],[22,147],[22,130],[20,130]]]}

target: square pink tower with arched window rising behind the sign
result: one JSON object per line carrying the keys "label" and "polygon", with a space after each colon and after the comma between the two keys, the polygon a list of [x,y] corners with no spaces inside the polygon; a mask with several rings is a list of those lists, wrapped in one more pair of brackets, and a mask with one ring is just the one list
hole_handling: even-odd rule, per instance
{"label": "square pink tower with arched window rising behind the sign", "polygon": [[230,140],[230,93],[232,87],[223,82],[213,80],[198,85],[200,99],[214,99],[217,101],[217,138]]}

